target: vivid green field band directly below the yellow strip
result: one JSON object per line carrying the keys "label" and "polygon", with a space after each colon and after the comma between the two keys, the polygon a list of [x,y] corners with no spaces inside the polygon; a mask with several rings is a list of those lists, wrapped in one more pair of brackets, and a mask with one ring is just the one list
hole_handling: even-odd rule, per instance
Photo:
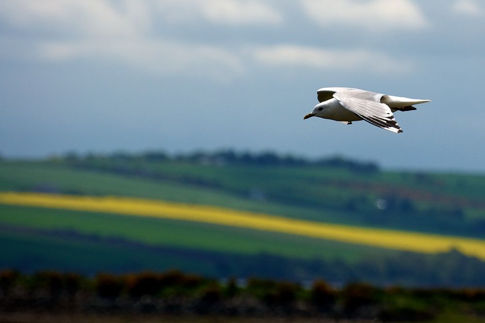
{"label": "vivid green field band directly below the yellow strip", "polygon": [[0,224],[40,229],[68,229],[149,244],[241,254],[265,252],[293,258],[357,260],[392,253],[380,248],[235,227],[4,205],[0,205]]}

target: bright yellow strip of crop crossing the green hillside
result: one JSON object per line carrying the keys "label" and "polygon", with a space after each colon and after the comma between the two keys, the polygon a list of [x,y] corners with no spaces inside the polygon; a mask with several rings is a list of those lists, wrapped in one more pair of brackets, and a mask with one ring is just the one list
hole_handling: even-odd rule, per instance
{"label": "bright yellow strip of crop crossing the green hillside", "polygon": [[195,221],[420,253],[437,253],[456,248],[464,254],[485,259],[485,240],[326,224],[202,205],[127,197],[36,193],[0,193],[0,204]]}

